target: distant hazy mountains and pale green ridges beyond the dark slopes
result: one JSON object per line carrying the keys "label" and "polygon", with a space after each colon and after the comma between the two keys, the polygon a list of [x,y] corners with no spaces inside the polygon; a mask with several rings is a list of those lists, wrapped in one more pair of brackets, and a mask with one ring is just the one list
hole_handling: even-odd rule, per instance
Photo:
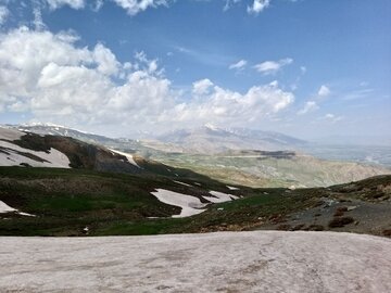
{"label": "distant hazy mountains and pale green ridges beyond the dark slopes", "polygon": [[[391,173],[379,165],[319,160],[295,150],[311,148],[308,142],[260,130],[220,129],[205,125],[194,129],[172,131],[160,136],[159,140],[131,140],[106,138],[50,124],[8,127],[40,136],[48,135],[51,138],[47,139],[49,141],[56,137],[56,140],[72,137],[73,143],[80,140],[86,145],[94,145],[97,150],[116,150],[116,155],[125,153],[131,160],[140,162],[139,164],[146,164],[146,169],[149,166],[153,166],[153,169],[160,166],[161,171],[166,174],[167,168],[162,166],[171,166],[192,170],[227,184],[326,187]],[[36,140],[42,139],[37,136]],[[98,153],[102,154],[102,151]],[[94,164],[104,165],[108,170],[123,170],[123,167],[119,167],[122,163],[112,164],[109,168],[106,155],[104,157],[104,164]]]}

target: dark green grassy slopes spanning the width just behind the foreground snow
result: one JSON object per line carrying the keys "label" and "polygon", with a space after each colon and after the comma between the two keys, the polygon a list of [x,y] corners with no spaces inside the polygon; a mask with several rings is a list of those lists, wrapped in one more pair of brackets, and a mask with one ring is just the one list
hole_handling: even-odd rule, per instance
{"label": "dark green grassy slopes spanning the width just behind the foreground snow", "polygon": [[[161,168],[161,165],[157,165]],[[174,169],[173,169],[174,170]],[[338,206],[357,203],[381,205],[390,212],[391,176],[374,177],[355,183],[314,189],[250,189],[228,190],[225,184],[181,171],[180,181],[173,177],[153,174],[112,174],[83,169],[0,167],[0,201],[36,217],[15,213],[0,214],[2,235],[119,235],[182,232],[209,232],[222,230],[277,229],[290,230],[290,215],[295,213],[327,214],[327,222],[333,219]],[[150,194],[154,189],[167,189],[200,199],[210,190],[243,195],[234,202],[211,204],[207,211],[188,218],[171,218],[180,208],[166,205]],[[344,216],[353,212],[344,211]],[[389,213],[388,215],[390,215]],[[358,215],[358,216],[357,216]],[[360,220],[360,214],[352,216]],[[313,215],[312,215],[313,216]],[[149,218],[159,217],[159,218]],[[305,221],[298,229],[333,229],[327,225]],[[374,220],[358,232],[382,234],[391,228],[388,217],[382,222]],[[338,231],[361,227],[344,222]],[[369,226],[368,226],[369,225]],[[373,226],[376,225],[376,229]],[[299,227],[301,226],[301,227]],[[379,226],[379,227],[377,227]],[[86,229],[88,228],[88,229]],[[321,228],[321,229],[320,229]]]}

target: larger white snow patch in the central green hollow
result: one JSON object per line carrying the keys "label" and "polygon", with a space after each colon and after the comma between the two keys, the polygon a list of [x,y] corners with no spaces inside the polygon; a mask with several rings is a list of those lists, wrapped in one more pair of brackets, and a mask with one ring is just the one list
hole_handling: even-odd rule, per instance
{"label": "larger white snow patch in the central green hollow", "polygon": [[204,207],[206,204],[201,203],[200,199],[195,196],[165,189],[156,189],[156,191],[151,192],[151,194],[156,196],[162,203],[181,207],[180,214],[174,215],[173,218],[190,217],[205,211],[200,208]]}

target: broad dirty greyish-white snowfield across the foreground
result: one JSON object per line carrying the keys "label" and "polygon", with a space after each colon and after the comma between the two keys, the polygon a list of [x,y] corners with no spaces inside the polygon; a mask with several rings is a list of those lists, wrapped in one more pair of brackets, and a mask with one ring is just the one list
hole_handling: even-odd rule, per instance
{"label": "broad dirty greyish-white snowfield across the foreground", "polygon": [[332,232],[0,238],[0,292],[391,292],[391,240]]}

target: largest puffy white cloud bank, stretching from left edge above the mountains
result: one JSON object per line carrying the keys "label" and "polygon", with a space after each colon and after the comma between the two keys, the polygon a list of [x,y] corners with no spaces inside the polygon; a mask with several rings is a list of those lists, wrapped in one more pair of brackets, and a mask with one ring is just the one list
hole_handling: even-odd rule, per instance
{"label": "largest puffy white cloud bank, stretching from left edge above the mountains", "polygon": [[83,48],[76,40],[27,27],[0,35],[0,109],[75,126],[165,130],[206,122],[245,126],[294,101],[277,82],[241,93],[205,78],[182,93],[143,52],[121,63],[104,44]]}

